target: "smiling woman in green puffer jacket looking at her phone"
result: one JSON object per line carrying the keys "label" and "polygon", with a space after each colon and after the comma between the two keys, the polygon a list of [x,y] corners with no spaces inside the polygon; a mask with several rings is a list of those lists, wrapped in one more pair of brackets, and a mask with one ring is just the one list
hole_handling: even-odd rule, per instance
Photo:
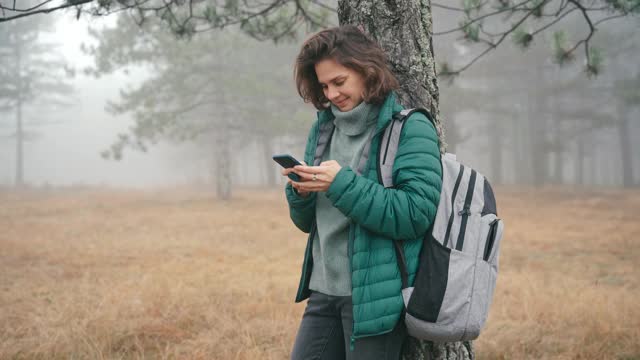
{"label": "smiling woman in green puffer jacket looking at her phone", "polygon": [[294,77],[319,111],[305,165],[282,172],[300,176],[286,196],[309,233],[296,302],[309,300],[291,358],[399,359],[406,329],[393,240],[402,240],[411,284],[439,201],[435,128],[422,114],[407,120],[396,185],[384,188],[380,137],[403,107],[382,49],[353,26],[324,30],[303,44]]}

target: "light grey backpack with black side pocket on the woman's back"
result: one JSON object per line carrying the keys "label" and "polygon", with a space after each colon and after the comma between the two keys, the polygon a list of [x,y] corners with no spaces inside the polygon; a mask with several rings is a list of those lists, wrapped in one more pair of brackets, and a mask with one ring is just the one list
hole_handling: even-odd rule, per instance
{"label": "light grey backpack with black side pocket on the woman's back", "polygon": [[[393,187],[393,160],[406,119],[424,109],[403,110],[387,127],[379,161],[385,187]],[[435,123],[434,123],[435,126]],[[473,340],[484,325],[496,286],[498,252],[504,225],[487,179],[445,153],[442,190],[436,218],[424,239],[413,286],[408,276],[402,242],[395,241],[402,275],[405,324],[409,334],[422,340]]]}

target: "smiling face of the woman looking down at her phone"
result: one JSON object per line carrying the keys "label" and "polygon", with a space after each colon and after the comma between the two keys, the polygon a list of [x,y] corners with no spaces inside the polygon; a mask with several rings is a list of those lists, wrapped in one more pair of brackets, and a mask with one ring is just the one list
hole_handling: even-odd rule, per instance
{"label": "smiling face of the woman looking down at her phone", "polygon": [[362,75],[333,58],[317,62],[315,68],[324,96],[340,111],[349,111],[360,105],[365,90]]}

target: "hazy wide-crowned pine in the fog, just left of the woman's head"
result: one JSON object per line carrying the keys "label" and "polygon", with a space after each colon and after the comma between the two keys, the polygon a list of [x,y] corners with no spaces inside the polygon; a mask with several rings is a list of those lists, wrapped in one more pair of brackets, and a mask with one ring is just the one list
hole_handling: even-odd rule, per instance
{"label": "hazy wide-crowned pine in the fog, just left of the woman's head", "polygon": [[[120,16],[116,26],[94,31],[93,36],[100,40],[98,46],[86,49],[96,61],[93,74],[101,76],[123,66],[145,66],[150,74],[108,105],[115,115],[133,113],[135,125],[103,153],[106,158],[120,159],[127,147],[146,151],[162,139],[198,142],[211,149],[206,157],[217,193],[228,199],[234,149],[253,137],[261,142],[265,153],[260,164],[267,166],[265,178],[273,183],[271,143],[287,134],[304,139],[306,124],[296,121],[300,104],[287,81],[290,51],[264,56],[265,44],[229,30],[176,42],[157,21],[150,19],[138,28],[128,16]],[[251,66],[258,58],[260,66]]]}

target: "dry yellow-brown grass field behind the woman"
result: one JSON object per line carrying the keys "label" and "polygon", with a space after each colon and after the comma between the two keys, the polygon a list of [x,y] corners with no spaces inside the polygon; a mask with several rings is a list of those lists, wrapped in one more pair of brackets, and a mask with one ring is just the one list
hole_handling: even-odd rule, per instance
{"label": "dry yellow-brown grass field behind the woman", "polygon": [[[498,188],[479,359],[640,359],[640,191]],[[281,191],[0,192],[0,359],[286,359],[305,235]]]}

